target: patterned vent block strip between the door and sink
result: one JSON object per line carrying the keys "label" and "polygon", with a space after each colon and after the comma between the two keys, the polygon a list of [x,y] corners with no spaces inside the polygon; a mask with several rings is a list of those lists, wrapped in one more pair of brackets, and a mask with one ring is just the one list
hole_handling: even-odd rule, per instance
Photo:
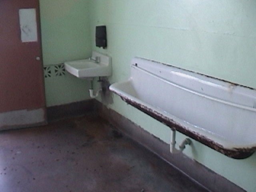
{"label": "patterned vent block strip between the door and sink", "polygon": [[59,77],[66,75],[64,64],[44,66],[44,78]]}

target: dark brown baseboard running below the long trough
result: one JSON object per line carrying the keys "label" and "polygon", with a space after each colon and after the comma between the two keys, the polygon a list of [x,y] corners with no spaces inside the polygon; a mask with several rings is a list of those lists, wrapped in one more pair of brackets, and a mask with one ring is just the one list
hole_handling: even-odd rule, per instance
{"label": "dark brown baseboard running below the long trough", "polygon": [[213,172],[206,166],[188,158],[184,154],[170,154],[169,145],[149,132],[134,124],[124,116],[107,108],[101,102],[94,100],[97,114],[126,134],[132,140],[140,143],[160,158],[178,168],[184,174],[212,192],[245,192],[236,184]]}

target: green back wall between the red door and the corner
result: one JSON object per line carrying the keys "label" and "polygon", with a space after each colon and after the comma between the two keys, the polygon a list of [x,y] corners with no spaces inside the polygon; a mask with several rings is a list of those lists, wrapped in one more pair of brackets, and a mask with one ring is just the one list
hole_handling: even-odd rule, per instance
{"label": "green back wall between the red door and the corner", "polygon": [[[44,66],[90,56],[88,0],[40,0],[40,20]],[[45,78],[46,105],[88,99],[88,88],[70,74]]]}

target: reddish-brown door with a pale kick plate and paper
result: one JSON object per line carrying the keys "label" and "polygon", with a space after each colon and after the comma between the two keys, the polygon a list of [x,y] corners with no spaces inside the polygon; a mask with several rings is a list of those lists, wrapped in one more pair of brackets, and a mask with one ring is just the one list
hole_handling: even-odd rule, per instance
{"label": "reddish-brown door with a pale kick plate and paper", "polygon": [[0,0],[0,130],[46,122],[41,58],[38,0]]}

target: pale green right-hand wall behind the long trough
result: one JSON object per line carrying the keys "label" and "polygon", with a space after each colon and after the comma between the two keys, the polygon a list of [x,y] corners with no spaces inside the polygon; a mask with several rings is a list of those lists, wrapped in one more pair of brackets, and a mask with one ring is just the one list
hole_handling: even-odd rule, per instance
{"label": "pale green right-hand wall behind the long trough", "polygon": [[[110,82],[130,76],[140,56],[256,88],[256,1],[89,0],[91,33],[105,24],[112,57]],[[147,85],[148,86],[148,85]],[[165,142],[170,129],[114,95],[109,105]],[[178,142],[185,138],[178,134]],[[250,192],[256,191],[256,154],[228,158],[196,141],[185,154]]]}

